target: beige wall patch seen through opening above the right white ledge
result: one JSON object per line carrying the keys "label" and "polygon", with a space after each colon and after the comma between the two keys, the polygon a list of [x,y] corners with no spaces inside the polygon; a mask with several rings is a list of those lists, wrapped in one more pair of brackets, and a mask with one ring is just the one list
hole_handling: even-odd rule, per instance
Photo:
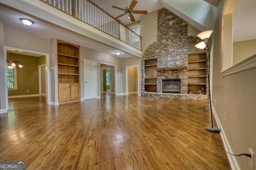
{"label": "beige wall patch seen through opening above the right white ledge", "polygon": [[256,39],[233,43],[233,65],[256,54]]}

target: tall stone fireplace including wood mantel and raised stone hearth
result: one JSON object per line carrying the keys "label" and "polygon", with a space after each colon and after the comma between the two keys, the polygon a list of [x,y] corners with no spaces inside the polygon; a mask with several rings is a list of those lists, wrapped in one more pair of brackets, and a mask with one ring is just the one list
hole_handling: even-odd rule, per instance
{"label": "tall stone fireplace including wood mantel and raised stone hearth", "polygon": [[[188,94],[188,86],[191,86],[188,85],[188,77],[191,77],[188,75],[188,55],[205,53],[204,50],[194,47],[198,38],[196,36],[188,36],[188,23],[166,8],[158,10],[157,21],[157,42],[148,46],[142,57],[142,96],[173,99],[209,99],[209,96],[205,94]],[[157,60],[156,64],[149,65],[148,62],[145,64],[145,61],[153,59]],[[145,66],[147,67],[147,73],[145,73]],[[148,67],[151,66],[156,67],[156,75],[148,77],[146,74],[148,74]],[[149,80],[152,80],[152,82]],[[166,84],[166,81],[170,80],[174,81],[172,82],[174,84],[179,84],[179,87],[175,85],[170,90],[170,85]],[[149,92],[148,88],[145,88],[146,86],[155,87],[155,89]],[[208,82],[204,86],[206,86],[207,94]]]}

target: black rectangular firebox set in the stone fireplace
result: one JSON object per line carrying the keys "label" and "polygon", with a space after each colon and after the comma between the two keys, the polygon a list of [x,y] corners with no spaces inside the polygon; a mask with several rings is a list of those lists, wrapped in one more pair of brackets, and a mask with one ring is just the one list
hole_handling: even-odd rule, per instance
{"label": "black rectangular firebox set in the stone fireplace", "polygon": [[162,80],[163,93],[180,93],[180,79]]}

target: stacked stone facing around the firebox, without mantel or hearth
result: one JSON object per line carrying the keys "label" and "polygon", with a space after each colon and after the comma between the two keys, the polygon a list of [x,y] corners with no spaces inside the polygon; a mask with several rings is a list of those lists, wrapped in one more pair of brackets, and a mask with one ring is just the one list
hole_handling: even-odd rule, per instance
{"label": "stacked stone facing around the firebox, without mantel or hearth", "polygon": [[[157,58],[157,68],[187,67],[188,54],[205,52],[205,50],[194,47],[197,44],[198,37],[188,36],[188,23],[166,8],[158,10],[157,21],[157,42],[150,45],[142,57],[142,92],[145,89],[145,59]],[[162,93],[163,79],[181,79],[181,93],[188,93],[187,69],[173,70],[171,73],[170,71],[157,72],[157,93]]]}

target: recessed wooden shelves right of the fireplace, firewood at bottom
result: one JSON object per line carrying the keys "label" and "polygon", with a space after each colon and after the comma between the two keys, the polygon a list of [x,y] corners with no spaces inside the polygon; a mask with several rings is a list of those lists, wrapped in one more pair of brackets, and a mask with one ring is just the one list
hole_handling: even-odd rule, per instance
{"label": "recessed wooden shelves right of the fireplace, firewood at bottom", "polygon": [[206,53],[188,55],[188,92],[206,89]]}

